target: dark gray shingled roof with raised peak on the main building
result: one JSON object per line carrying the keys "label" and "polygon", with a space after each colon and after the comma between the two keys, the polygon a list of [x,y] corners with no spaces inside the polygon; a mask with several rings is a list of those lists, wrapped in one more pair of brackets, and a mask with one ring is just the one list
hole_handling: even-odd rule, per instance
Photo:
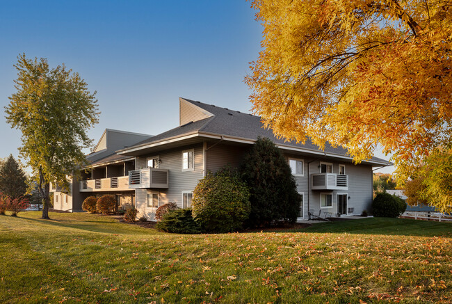
{"label": "dark gray shingled roof with raised peak on the main building", "polygon": [[[190,104],[190,113],[181,113],[184,118],[180,118],[181,122],[188,121],[188,117],[193,117],[194,121],[180,125],[174,129],[163,132],[162,134],[153,136],[145,141],[141,141],[132,147],[118,150],[118,154],[138,155],[140,150],[143,152],[150,147],[159,145],[168,145],[175,141],[184,140],[189,143],[188,139],[199,136],[204,138],[221,138],[225,141],[236,141],[241,143],[253,143],[260,137],[270,138],[278,147],[286,150],[300,151],[308,154],[318,154],[320,156],[330,156],[351,159],[347,156],[347,150],[343,147],[332,147],[329,143],[325,143],[325,150],[319,149],[312,141],[307,139],[305,144],[296,143],[295,141],[284,141],[282,138],[276,138],[271,129],[264,128],[261,118],[248,113],[241,113],[213,104],[204,104],[202,102],[193,101],[191,99],[179,98],[182,104]],[[182,106],[181,106],[182,109]],[[197,110],[196,110],[197,109]],[[190,116],[191,115],[191,116]],[[196,118],[202,118],[196,120]],[[384,159],[373,157],[366,163],[380,166],[392,166],[392,163]]]}

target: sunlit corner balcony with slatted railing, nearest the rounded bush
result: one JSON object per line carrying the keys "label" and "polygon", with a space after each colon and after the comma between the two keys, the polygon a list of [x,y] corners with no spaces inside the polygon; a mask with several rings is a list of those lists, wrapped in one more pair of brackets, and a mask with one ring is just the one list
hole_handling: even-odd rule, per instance
{"label": "sunlit corner balcony with slatted railing, nearest the rounded bush", "polygon": [[129,171],[129,188],[168,189],[168,170],[145,168]]}

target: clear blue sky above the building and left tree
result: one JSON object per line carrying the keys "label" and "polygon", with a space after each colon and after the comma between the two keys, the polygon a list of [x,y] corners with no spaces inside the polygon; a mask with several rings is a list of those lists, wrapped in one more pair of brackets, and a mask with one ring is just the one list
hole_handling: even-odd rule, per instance
{"label": "clear blue sky above the building and left tree", "polygon": [[[1,1],[0,106],[15,92],[17,55],[65,63],[97,91],[106,128],[159,134],[177,127],[178,97],[249,111],[243,83],[261,26],[245,0]],[[0,119],[0,157],[20,132]],[[380,155],[381,157],[381,155]]]}

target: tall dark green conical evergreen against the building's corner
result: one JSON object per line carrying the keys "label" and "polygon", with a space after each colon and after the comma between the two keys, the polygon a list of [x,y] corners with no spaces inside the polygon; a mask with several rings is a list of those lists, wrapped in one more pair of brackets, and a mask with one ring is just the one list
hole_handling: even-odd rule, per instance
{"label": "tall dark green conical evergreen against the building's corner", "polygon": [[250,188],[249,226],[296,221],[300,208],[296,182],[289,163],[270,139],[257,139],[245,154],[240,171]]}

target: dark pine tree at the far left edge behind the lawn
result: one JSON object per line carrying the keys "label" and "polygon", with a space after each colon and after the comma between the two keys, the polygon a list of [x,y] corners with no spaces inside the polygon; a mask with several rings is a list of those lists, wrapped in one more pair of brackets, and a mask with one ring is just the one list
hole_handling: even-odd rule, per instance
{"label": "dark pine tree at the far left edge behind the lawn", "polygon": [[27,189],[24,170],[10,154],[0,167],[0,192],[14,199],[23,197]]}

